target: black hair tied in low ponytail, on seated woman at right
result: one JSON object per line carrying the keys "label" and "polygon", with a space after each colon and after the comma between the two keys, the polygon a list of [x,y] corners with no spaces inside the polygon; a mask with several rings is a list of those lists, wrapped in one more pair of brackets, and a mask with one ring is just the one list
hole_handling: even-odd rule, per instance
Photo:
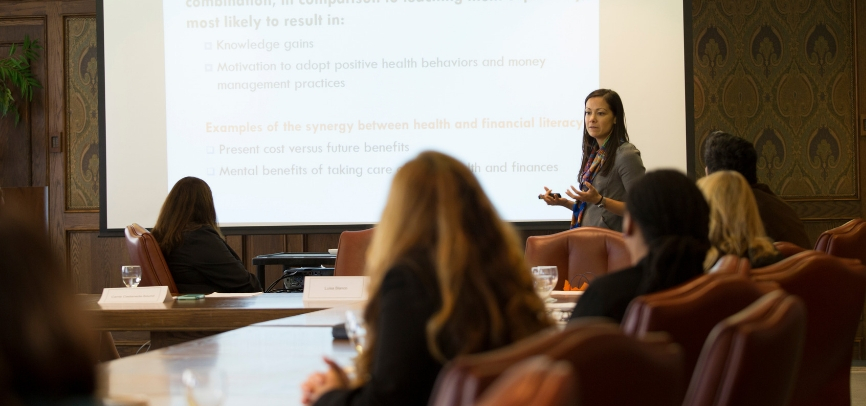
{"label": "black hair tied in low ponytail, on seated woman at right", "polygon": [[648,273],[639,294],[703,274],[710,248],[710,207],[694,182],[674,170],[648,172],[632,186],[626,207],[649,248]]}

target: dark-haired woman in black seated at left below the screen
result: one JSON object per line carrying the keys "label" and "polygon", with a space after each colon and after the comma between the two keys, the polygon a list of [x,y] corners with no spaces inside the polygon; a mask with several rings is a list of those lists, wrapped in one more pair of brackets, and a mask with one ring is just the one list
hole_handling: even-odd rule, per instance
{"label": "dark-haired woman in black seated at left below the screen", "polygon": [[190,176],[174,184],[152,233],[181,293],[261,292],[258,279],[226,244],[203,180]]}

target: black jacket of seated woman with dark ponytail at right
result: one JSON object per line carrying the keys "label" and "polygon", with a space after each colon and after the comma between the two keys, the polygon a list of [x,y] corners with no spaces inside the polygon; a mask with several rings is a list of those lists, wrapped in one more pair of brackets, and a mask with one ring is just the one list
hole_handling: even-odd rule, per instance
{"label": "black jacket of seated woman with dark ponytail at right", "polygon": [[574,306],[571,320],[579,317],[608,317],[622,322],[628,304],[638,296],[644,277],[644,258],[637,265],[592,280]]}

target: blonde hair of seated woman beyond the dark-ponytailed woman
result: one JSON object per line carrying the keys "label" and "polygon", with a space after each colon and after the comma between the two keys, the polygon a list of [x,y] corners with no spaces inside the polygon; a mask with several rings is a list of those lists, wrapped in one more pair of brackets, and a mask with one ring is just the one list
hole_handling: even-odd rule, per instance
{"label": "blonde hair of seated woman beyond the dark-ponytailed woman", "polygon": [[748,258],[752,268],[774,264],[782,255],[764,232],[752,188],[743,175],[718,171],[698,180],[710,205],[710,243],[704,269],[724,255]]}

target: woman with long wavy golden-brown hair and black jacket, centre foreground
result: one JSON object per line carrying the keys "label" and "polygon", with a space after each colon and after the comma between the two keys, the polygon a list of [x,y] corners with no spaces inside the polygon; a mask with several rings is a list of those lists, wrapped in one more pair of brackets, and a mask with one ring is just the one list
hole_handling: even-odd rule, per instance
{"label": "woman with long wavy golden-brown hair and black jacket, centre foreground", "polygon": [[316,405],[425,405],[442,365],[550,325],[510,226],[465,165],[424,152],[394,177],[367,254],[366,346],[349,382],[330,363]]}

